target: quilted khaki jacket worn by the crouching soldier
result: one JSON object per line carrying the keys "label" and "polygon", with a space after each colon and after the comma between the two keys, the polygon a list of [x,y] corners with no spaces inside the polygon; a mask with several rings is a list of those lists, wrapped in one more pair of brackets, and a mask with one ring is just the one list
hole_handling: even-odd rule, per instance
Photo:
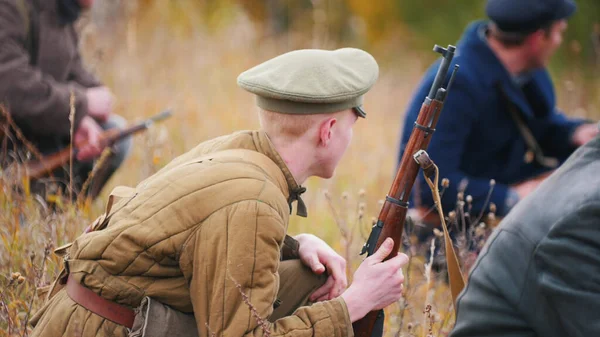
{"label": "quilted khaki jacket worn by the crouching soldier", "polygon": [[[256,153],[245,159],[216,155],[228,149],[259,152],[266,161],[255,160]],[[236,283],[258,314],[269,317],[279,288],[287,200],[297,188],[265,133],[207,141],[115,203],[105,229],[79,237],[69,249],[71,275],[132,308],[150,296],[194,312],[201,336],[262,336]],[[125,327],[74,303],[64,289],[33,324],[36,337],[127,335]],[[353,334],[341,298],[300,308],[269,323],[269,330],[271,336]]]}

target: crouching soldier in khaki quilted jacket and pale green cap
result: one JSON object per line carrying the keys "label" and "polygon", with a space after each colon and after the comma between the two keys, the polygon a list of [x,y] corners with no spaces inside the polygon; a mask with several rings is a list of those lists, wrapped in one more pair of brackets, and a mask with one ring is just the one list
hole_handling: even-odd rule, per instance
{"label": "crouching soldier in khaki quilted jacket and pale green cap", "polygon": [[206,141],[115,190],[120,201],[68,249],[66,286],[50,291],[32,336],[126,336],[146,296],[193,312],[200,336],[353,336],[352,322],[400,298],[407,256],[382,262],[388,239],[347,287],[340,255],[286,231],[293,202],[307,215],[301,184],[333,176],[378,72],[371,55],[345,48],[242,73],[261,129]]}

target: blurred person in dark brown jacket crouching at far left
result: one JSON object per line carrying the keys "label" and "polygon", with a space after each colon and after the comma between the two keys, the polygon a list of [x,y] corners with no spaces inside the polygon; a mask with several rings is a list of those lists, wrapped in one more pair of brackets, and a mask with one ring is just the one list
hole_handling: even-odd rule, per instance
{"label": "blurred person in dark brown jacket crouching at far left", "polygon": [[[74,143],[82,146],[74,165],[77,190],[103,150],[103,130],[125,125],[113,114],[113,95],[84,67],[74,22],[93,0],[0,0],[0,103],[4,104],[26,140],[43,155],[70,142],[71,93],[75,97]],[[23,140],[5,134],[7,148],[15,149],[0,165],[23,159]],[[86,145],[84,145],[86,144]],[[88,190],[93,198],[123,162],[131,139],[119,143]],[[8,158],[7,158],[8,157]],[[17,158],[15,158],[17,157]],[[66,169],[53,173],[62,187]],[[43,184],[38,182],[38,188]]]}

